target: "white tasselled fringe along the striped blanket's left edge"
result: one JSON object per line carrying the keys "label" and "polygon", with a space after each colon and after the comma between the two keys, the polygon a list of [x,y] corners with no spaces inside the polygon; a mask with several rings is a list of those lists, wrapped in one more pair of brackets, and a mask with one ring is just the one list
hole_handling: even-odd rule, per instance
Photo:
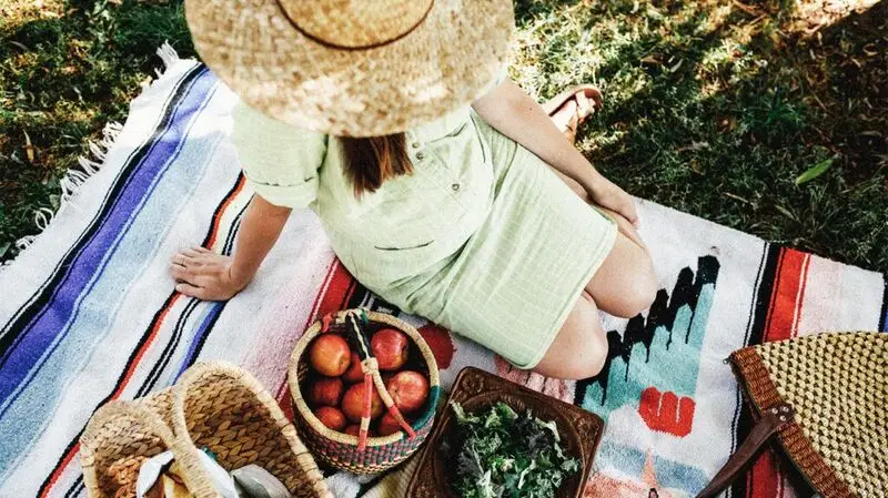
{"label": "white tasselled fringe along the striped blanket's left edge", "polygon": [[[155,69],[155,78],[149,78],[144,83],[142,83],[143,91],[151,87],[154,81],[160,79],[168,69],[179,61],[179,54],[168,41],[164,41],[163,44],[158,49],[157,54],[160,57],[161,61],[163,61],[163,68]],[[87,180],[99,172],[104,164],[108,152],[114,146],[114,143],[122,131],[123,124],[110,122],[104,125],[104,129],[102,130],[102,139],[100,141],[89,142],[90,153],[88,155],[78,157],[77,162],[79,167],[75,166],[68,170],[62,180],[59,182],[61,195],[58,210],[53,211],[49,207],[41,207],[38,210],[34,213],[34,226],[37,226],[38,233],[33,235],[26,235],[16,241],[14,245],[16,248],[19,250],[19,254],[28,250],[37,241],[37,238],[43,234],[43,232],[54,220],[56,214],[61,212],[68,204],[71,203]],[[0,272],[12,264],[14,258],[0,262]]]}

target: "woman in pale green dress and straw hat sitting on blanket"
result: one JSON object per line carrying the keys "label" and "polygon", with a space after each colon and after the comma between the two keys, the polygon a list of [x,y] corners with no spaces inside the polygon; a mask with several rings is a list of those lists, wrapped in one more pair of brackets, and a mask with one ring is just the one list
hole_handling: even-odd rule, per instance
{"label": "woman in pale green dress and straw hat sitting on blanket", "polygon": [[[653,302],[633,199],[504,77],[508,0],[189,0],[186,16],[243,100],[233,140],[256,195],[232,257],[173,257],[179,292],[235,295],[309,206],[367,288],[546,376],[597,374],[597,311]],[[589,96],[554,119],[575,129]]]}

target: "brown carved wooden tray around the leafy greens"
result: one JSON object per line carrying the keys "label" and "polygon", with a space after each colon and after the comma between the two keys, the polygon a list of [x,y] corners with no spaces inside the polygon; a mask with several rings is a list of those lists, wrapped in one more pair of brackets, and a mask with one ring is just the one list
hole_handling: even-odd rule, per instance
{"label": "brown carved wooden tray around the leafy greens", "polygon": [[[460,403],[466,411],[477,411],[503,402],[518,413],[529,409],[543,420],[555,420],[567,454],[576,456],[582,463],[582,470],[565,480],[555,496],[582,496],[604,429],[604,421],[597,415],[474,367],[460,372],[450,402]],[[451,489],[454,467],[450,464],[453,460],[444,449],[447,445],[443,445],[452,437],[455,426],[453,409],[445,406],[420,456],[406,496],[460,498]]]}

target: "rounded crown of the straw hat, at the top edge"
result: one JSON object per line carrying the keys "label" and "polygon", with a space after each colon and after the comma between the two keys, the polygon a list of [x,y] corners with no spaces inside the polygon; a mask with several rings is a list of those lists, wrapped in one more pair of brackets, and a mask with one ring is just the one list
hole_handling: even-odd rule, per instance
{"label": "rounded crown of the straw hat, at the top edge", "polygon": [[339,49],[395,41],[423,22],[434,0],[275,0],[293,27]]}

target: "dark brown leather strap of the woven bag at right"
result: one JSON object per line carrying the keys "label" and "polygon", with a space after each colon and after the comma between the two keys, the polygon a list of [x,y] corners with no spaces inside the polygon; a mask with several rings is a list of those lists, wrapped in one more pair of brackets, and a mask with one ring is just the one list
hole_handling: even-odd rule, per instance
{"label": "dark brown leather strap of the woven bag at right", "polygon": [[765,443],[785,425],[793,421],[795,410],[791,405],[779,404],[763,411],[761,418],[753,426],[749,436],[743,441],[737,451],[728,458],[718,474],[713,477],[709,485],[698,492],[696,498],[714,498],[727,488],[737,476],[753,464],[753,458],[758,454]]}

